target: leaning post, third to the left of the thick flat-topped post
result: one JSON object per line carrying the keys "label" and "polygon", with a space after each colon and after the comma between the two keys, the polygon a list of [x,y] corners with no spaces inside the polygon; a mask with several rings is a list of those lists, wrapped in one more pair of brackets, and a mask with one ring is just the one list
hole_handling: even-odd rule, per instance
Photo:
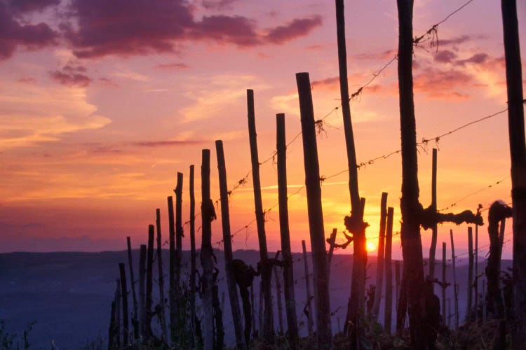
{"label": "leaning post, third to the left of the thick flat-topped post", "polygon": [[223,228],[223,250],[224,250],[224,272],[227,276],[227,288],[229,291],[230,308],[232,320],[234,321],[234,332],[238,349],[245,349],[245,337],[243,335],[243,323],[241,321],[241,310],[239,308],[238,290],[234,269],[232,267],[232,238],[230,235],[229,214],[229,191],[227,188],[227,168],[224,162],[223,141],[215,141],[215,152],[217,153],[217,169],[219,172],[220,198],[221,198],[221,223]]}

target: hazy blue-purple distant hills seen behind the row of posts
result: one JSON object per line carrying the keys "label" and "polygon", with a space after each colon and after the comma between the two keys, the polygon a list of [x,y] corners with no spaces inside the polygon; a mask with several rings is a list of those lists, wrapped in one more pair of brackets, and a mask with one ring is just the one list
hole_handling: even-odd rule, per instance
{"label": "hazy blue-purple distant hills seen behind the row of posts", "polygon": [[[168,251],[163,251],[163,254],[163,262],[166,266],[165,274],[167,274]],[[274,253],[270,255],[273,256]],[[309,269],[312,273],[310,253],[308,255]],[[223,252],[215,251],[215,256],[217,257],[217,267],[220,269],[219,286],[221,299],[222,293],[227,294],[223,274]],[[135,276],[138,276],[139,252],[137,250],[133,251],[133,258]],[[242,259],[255,267],[259,260],[259,252],[253,250],[236,251],[234,252],[234,258]],[[298,253],[293,254],[293,260],[295,261],[297,316],[300,323],[300,331],[302,334],[306,334],[306,316],[303,313],[306,303],[306,292],[302,255]],[[0,320],[6,321],[6,328],[9,332],[17,332],[18,335],[22,334],[27,323],[36,321],[33,330],[29,334],[32,349],[49,349],[52,340],[55,341],[59,349],[79,348],[79,346],[86,344],[88,339],[102,338],[105,340],[109,325],[110,305],[115,292],[115,280],[119,276],[119,267],[117,265],[119,262],[125,262],[128,265],[126,251],[0,254]],[[189,265],[188,262],[189,252],[185,251],[183,264]],[[440,261],[438,263],[441,264]],[[370,257],[368,265],[367,286],[375,281],[376,258]],[[503,268],[508,266],[511,266],[511,261],[504,261]],[[154,264],[154,267],[156,267],[156,264]],[[200,267],[198,260],[198,268]],[[484,268],[485,262],[479,263],[479,273],[483,272]],[[450,268],[448,267],[447,270],[447,279],[452,281]],[[343,327],[346,304],[351,288],[351,271],[351,255],[334,255],[330,281],[330,307],[334,312],[332,316],[332,330],[335,332]],[[437,266],[437,275],[441,276],[441,265]],[[154,276],[157,276],[157,272],[154,272]],[[186,273],[183,273],[182,276],[187,278]],[[393,286],[396,286],[394,276],[393,267]],[[272,281],[274,283],[274,276]],[[457,267],[457,281],[460,283],[459,302],[461,305],[460,319],[462,319],[466,311],[466,265]],[[167,285],[165,288],[167,288]],[[254,290],[257,314],[259,278],[255,279]],[[311,290],[313,290],[312,284]],[[272,291],[274,300],[276,300],[276,289],[274,286]],[[448,288],[447,297],[452,297],[452,293],[452,288]],[[436,288],[436,294],[440,297],[438,288]],[[283,297],[283,294],[281,297]],[[155,289],[154,303],[158,302],[158,298],[159,293]],[[396,302],[393,302],[393,316],[396,315],[394,304]],[[380,309],[380,319],[382,320],[383,302]],[[226,328],[225,341],[227,344],[232,345],[234,344],[234,331],[228,295],[224,297],[223,311],[223,321]],[[283,312],[285,311],[283,310]],[[276,306],[274,307],[274,318],[274,325],[277,330]],[[283,322],[286,330],[285,315],[283,315]],[[155,318],[153,323],[157,323]]]}

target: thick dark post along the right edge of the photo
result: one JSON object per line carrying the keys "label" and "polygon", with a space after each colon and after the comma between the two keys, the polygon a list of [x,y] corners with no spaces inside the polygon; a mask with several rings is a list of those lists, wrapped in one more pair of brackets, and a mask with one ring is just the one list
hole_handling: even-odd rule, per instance
{"label": "thick dark post along the right edge of the photo", "polygon": [[504,57],[508,93],[508,130],[511,153],[511,202],[513,202],[513,349],[526,344],[526,142],[522,66],[515,0],[502,0]]}

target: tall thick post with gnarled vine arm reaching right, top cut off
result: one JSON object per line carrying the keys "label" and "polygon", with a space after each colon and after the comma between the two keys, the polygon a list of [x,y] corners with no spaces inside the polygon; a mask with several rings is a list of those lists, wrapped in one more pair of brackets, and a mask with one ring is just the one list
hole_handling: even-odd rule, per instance
{"label": "tall thick post with gnarled vine arm reaching right, top cut off", "polygon": [[425,349],[430,339],[426,320],[424,260],[420,237],[417,135],[414,118],[412,54],[413,0],[397,0],[398,5],[398,93],[400,99],[400,132],[402,138],[402,252],[407,286],[412,349]]}

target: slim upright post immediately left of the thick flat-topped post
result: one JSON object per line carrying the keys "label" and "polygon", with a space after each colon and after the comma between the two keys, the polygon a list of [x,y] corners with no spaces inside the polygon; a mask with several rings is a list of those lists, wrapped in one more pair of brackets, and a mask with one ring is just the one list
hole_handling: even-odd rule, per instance
{"label": "slim upright post immediately left of the thick flat-topped post", "polygon": [[276,114],[276,153],[278,156],[278,202],[281,255],[283,256],[283,289],[287,313],[288,341],[290,349],[298,347],[296,299],[294,293],[294,269],[290,249],[287,195],[287,146],[285,142],[285,114]]}

